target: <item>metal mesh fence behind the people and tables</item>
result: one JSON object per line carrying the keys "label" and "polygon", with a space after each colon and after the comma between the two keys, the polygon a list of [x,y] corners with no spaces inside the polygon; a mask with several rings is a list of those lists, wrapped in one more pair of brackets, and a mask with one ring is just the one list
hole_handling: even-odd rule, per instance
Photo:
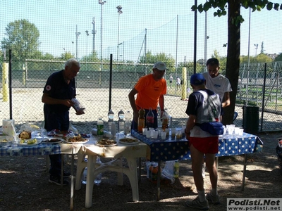
{"label": "metal mesh fence behind the people and tables", "polygon": [[[2,120],[9,119],[12,114],[18,124],[32,122],[41,125],[44,120],[41,101],[44,85],[52,72],[63,69],[63,63],[64,61],[53,61],[52,63],[13,61],[11,65],[11,96],[7,91],[5,93],[4,87],[7,81],[2,75],[4,70],[1,66],[0,118]],[[25,64],[25,68],[23,68],[23,64]],[[100,69],[101,65],[103,65],[102,70]],[[264,64],[251,64],[248,69],[246,65],[241,65],[238,102],[235,107],[239,113],[234,122],[236,126],[242,127],[243,124],[242,107],[252,105],[259,106],[259,131],[281,130],[281,67],[282,63],[266,64],[266,69]],[[72,110],[71,122],[80,128],[80,132],[89,133],[93,127],[96,127],[98,117],[103,118],[106,128],[110,106],[115,113],[115,121],[118,120],[118,111],[121,109],[123,111],[130,110],[132,113],[128,93],[133,89],[137,80],[143,75],[149,74],[151,70],[152,65],[148,64],[114,66],[112,80],[110,80],[109,63],[82,63],[82,68],[75,80],[77,98],[86,110],[85,115],[80,116],[75,115]],[[165,75],[168,84],[165,108],[173,117],[173,125],[180,127],[187,121],[185,110],[188,101],[185,101],[182,96],[184,94],[188,98],[192,90],[189,87],[184,90],[176,89],[176,76],[182,78],[181,73],[173,75],[174,79],[170,87],[169,75]],[[190,79],[189,74],[187,79]],[[111,90],[109,89],[110,81],[112,81]]]}

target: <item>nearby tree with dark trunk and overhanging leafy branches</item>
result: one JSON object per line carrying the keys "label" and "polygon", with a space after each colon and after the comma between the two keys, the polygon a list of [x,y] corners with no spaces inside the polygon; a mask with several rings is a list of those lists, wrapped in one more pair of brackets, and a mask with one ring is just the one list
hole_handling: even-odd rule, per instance
{"label": "nearby tree with dark trunk and overhanging leafy branches", "polygon": [[[263,8],[271,11],[282,10],[282,4],[273,3],[268,0],[208,0],[204,4],[192,6],[192,11],[209,11],[210,8],[217,9],[214,16],[221,17],[228,14],[228,44],[226,60],[226,77],[231,83],[231,106],[226,107],[223,115],[223,124],[233,122],[233,113],[235,110],[235,99],[238,87],[239,69],[240,69],[240,24],[244,18],[240,15],[240,8],[251,8],[253,12],[261,11]],[[227,11],[228,13],[227,13]]]}

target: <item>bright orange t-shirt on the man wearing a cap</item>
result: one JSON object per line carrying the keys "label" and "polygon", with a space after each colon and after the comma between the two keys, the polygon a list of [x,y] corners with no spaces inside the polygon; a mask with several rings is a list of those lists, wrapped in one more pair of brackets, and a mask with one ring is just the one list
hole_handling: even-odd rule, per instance
{"label": "bright orange t-shirt on the man wearing a cap", "polygon": [[[135,100],[137,108],[157,109],[159,96],[166,94],[166,80],[155,81],[152,74],[140,77],[134,87],[138,93]],[[139,109],[138,108],[138,109]]]}

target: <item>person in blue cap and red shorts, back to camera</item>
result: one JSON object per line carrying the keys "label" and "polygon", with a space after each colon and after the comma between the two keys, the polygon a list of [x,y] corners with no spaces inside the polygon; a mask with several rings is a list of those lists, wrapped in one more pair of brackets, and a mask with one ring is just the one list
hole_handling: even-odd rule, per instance
{"label": "person in blue cap and red shorts, back to camera", "polygon": [[[219,94],[207,89],[205,79],[202,74],[196,73],[191,76],[190,84],[193,88],[189,96],[186,114],[189,116],[185,128],[186,139],[189,140],[190,153],[192,159],[192,172],[197,188],[198,196],[186,205],[200,210],[209,210],[211,200],[213,204],[219,204],[219,194],[217,193],[217,170],[216,153],[219,151],[219,136],[213,136],[205,132],[197,124],[212,120],[221,120],[222,106]],[[204,180],[202,177],[202,160],[206,159],[209,179],[212,184],[212,191],[204,193]]]}

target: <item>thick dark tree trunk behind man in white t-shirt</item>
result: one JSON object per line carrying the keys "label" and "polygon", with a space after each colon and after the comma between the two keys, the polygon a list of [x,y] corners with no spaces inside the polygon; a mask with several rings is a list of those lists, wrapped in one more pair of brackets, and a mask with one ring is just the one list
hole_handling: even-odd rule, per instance
{"label": "thick dark tree trunk behind man in white t-shirt", "polygon": [[235,110],[235,101],[238,87],[239,69],[240,69],[240,23],[235,25],[233,19],[240,15],[240,0],[228,0],[228,45],[226,77],[231,83],[230,93],[231,105],[224,108],[223,124],[233,123],[233,114]]}

